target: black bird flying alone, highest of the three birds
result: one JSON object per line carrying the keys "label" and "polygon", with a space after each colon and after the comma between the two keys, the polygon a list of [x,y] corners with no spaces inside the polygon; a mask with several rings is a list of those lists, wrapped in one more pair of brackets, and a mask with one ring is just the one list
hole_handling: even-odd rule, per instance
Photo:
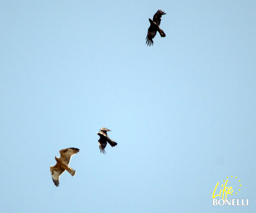
{"label": "black bird flying alone, highest of the three birds", "polygon": [[150,44],[153,46],[154,42],[153,42],[153,38],[156,36],[156,32],[158,31],[161,37],[165,37],[165,33],[162,29],[160,29],[159,25],[161,22],[161,17],[162,15],[164,15],[166,13],[163,12],[163,10],[159,9],[157,10],[156,14],[152,19],[149,19],[150,22],[150,27],[147,30],[147,41],[146,44],[147,46],[150,46]]}

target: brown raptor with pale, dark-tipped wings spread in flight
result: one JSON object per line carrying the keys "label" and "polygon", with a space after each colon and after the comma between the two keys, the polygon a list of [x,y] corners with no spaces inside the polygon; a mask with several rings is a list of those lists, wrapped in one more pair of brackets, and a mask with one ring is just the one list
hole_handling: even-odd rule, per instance
{"label": "brown raptor with pale, dark-tipped wings spread in flight", "polygon": [[67,170],[69,174],[74,176],[76,174],[76,171],[74,169],[71,169],[68,164],[70,161],[70,158],[72,155],[78,153],[80,150],[77,148],[67,148],[60,150],[61,157],[57,158],[55,156],[55,160],[57,161],[55,166],[50,166],[50,171],[52,175],[52,181],[54,182],[55,186],[59,186],[59,177],[61,174]]}

